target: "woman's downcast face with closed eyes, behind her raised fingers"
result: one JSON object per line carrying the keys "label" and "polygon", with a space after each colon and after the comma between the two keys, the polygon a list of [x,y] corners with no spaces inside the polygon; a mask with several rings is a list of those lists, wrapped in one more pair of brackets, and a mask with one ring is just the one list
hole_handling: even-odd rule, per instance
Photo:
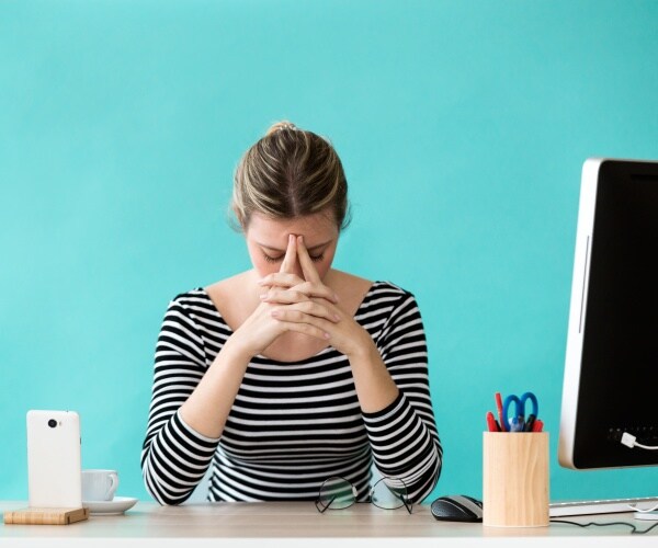
{"label": "woman's downcast face with closed eyes, behind her raised fingers", "polygon": [[[331,267],[339,236],[333,216],[324,212],[295,219],[273,219],[254,213],[245,236],[251,263],[259,276],[279,272],[290,235],[304,237],[308,254],[324,279]],[[295,264],[294,273],[304,277],[299,261]]]}

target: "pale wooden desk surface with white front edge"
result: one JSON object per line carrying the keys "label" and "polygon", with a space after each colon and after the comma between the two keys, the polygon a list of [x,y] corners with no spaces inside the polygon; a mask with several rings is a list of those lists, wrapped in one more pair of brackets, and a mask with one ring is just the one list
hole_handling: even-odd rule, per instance
{"label": "pale wooden desk surface with white front edge", "polygon": [[[24,507],[24,502],[0,502],[0,511]],[[638,529],[651,524],[635,522],[632,513],[608,516],[585,516],[574,521],[599,523],[624,521]],[[620,536],[623,536],[622,540]],[[621,525],[589,527],[551,524],[537,528],[497,528],[481,524],[461,524],[435,521],[427,505],[415,506],[409,515],[404,509],[386,511],[372,504],[355,504],[341,511],[319,514],[310,502],[294,503],[220,503],[159,506],[139,502],[118,516],[91,516],[72,525],[2,525],[0,545],[10,546],[263,546],[266,538],[285,539],[276,543],[284,548],[341,548],[348,546],[400,546],[410,540],[418,546],[436,547],[450,539],[450,546],[558,546],[577,541],[578,546],[656,546],[658,527],[648,535],[629,535]],[[529,538],[532,537],[532,538]],[[219,543],[218,539],[230,539]],[[568,543],[571,546],[571,543]]]}

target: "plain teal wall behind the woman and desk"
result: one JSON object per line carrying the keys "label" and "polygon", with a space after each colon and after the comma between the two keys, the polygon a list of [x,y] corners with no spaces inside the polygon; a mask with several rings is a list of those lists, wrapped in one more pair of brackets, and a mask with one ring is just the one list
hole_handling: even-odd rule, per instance
{"label": "plain teal wall behind the woman and desk", "polygon": [[0,499],[25,412],[75,409],[87,468],[147,498],[139,453],[170,298],[249,267],[241,153],[287,118],[331,138],[336,266],[412,290],[445,449],[481,495],[496,390],[534,389],[553,499],[658,493],[557,465],[580,169],[658,158],[654,1],[0,1]]}

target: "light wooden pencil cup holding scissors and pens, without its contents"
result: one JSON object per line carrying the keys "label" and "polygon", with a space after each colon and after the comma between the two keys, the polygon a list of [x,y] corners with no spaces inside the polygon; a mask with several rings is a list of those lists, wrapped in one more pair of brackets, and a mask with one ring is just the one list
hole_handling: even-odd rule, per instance
{"label": "light wooden pencil cup holding scissors and pens, without its contents", "polygon": [[548,525],[548,433],[485,432],[483,523]]}

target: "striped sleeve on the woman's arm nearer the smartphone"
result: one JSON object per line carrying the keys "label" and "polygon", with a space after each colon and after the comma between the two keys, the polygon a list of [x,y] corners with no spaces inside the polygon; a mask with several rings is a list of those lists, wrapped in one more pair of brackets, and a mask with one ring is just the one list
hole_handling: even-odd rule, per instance
{"label": "striped sleeve on the woman's arm nearer the smartphone", "polygon": [[141,452],[145,486],[160,504],[180,504],[190,496],[219,442],[195,432],[179,413],[206,369],[198,327],[189,307],[174,299],[156,346],[152,397]]}

